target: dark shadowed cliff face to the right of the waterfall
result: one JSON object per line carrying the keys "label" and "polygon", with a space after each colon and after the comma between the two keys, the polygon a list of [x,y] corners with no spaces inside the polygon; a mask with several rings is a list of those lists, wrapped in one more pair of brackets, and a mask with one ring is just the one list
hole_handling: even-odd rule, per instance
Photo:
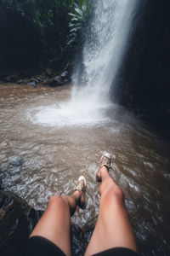
{"label": "dark shadowed cliff face to the right of the waterfall", "polygon": [[[117,76],[115,101],[170,138],[170,2],[148,1],[134,17],[133,33],[122,73]],[[134,22],[134,21],[133,21]]]}

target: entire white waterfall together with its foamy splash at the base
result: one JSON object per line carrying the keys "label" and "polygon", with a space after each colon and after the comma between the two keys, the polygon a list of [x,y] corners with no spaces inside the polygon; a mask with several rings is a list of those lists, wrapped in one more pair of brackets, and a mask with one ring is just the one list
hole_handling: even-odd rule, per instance
{"label": "entire white waterfall together with its foamy splash at the base", "polygon": [[[94,1],[79,64],[73,74],[70,102],[31,109],[29,118],[41,125],[103,125],[109,121],[109,91],[127,49],[137,0]],[[81,75],[80,75],[81,74]]]}

